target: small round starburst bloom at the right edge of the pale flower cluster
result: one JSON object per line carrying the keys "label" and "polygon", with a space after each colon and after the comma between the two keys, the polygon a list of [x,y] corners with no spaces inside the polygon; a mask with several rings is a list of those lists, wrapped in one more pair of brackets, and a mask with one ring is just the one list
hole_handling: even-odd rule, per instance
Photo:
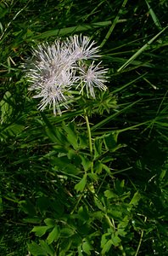
{"label": "small round starburst bloom at the right edge of the pale flower cluster", "polygon": [[80,84],[76,86],[78,88],[81,86],[80,94],[83,94],[84,89],[87,90],[87,97],[92,96],[95,98],[94,89],[98,88],[99,90],[107,90],[107,86],[104,84],[107,82],[106,74],[108,73],[108,68],[100,66],[101,62],[97,65],[92,64],[87,66],[81,66],[79,68],[79,80]]}

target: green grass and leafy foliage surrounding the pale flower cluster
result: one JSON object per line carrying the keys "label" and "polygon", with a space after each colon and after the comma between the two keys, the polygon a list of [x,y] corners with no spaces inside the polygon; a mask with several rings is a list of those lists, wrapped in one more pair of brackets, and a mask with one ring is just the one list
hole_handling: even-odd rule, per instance
{"label": "green grass and leafy foliage surrounding the pale flower cluster", "polygon": [[[168,254],[167,9],[0,1],[0,255]],[[40,113],[21,64],[75,33],[101,45],[109,90],[61,117]]]}

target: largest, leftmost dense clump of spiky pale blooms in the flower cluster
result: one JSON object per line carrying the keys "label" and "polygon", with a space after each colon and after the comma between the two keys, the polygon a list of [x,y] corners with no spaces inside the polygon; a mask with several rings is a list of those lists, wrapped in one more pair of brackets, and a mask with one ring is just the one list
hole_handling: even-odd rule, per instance
{"label": "largest, leftmost dense clump of spiky pale blooms in the flower cluster", "polygon": [[76,80],[73,61],[59,41],[52,46],[38,45],[37,49],[33,49],[33,55],[35,61],[29,63],[26,73],[31,82],[29,90],[36,90],[35,98],[42,97],[40,110],[53,105],[53,113],[56,114],[57,109],[61,114],[59,103],[68,108],[68,90]]}

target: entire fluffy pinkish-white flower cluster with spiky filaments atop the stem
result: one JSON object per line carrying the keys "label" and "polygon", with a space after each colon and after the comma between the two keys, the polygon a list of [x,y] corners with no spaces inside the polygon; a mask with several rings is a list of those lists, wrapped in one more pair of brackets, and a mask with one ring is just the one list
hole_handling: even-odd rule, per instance
{"label": "entire fluffy pinkish-white flower cluster with spiky filaments atop the stem", "polygon": [[[99,48],[86,36],[74,35],[63,42],[40,44],[33,49],[35,61],[25,65],[26,77],[31,82],[30,90],[36,91],[35,98],[42,98],[39,109],[53,106],[53,113],[61,114],[60,106],[68,108],[71,90],[95,98],[95,89],[106,90],[107,68],[101,61],[95,64]],[[92,60],[87,61],[87,60]]]}

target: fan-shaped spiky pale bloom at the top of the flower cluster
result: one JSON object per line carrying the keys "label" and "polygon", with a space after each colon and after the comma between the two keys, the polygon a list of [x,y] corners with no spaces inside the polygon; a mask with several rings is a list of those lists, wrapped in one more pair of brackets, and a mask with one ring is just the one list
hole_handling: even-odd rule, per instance
{"label": "fan-shaped spiky pale bloom at the top of the flower cluster", "polygon": [[82,35],[74,35],[65,41],[69,54],[75,61],[98,58],[99,47],[93,47],[95,44],[90,38]]}

